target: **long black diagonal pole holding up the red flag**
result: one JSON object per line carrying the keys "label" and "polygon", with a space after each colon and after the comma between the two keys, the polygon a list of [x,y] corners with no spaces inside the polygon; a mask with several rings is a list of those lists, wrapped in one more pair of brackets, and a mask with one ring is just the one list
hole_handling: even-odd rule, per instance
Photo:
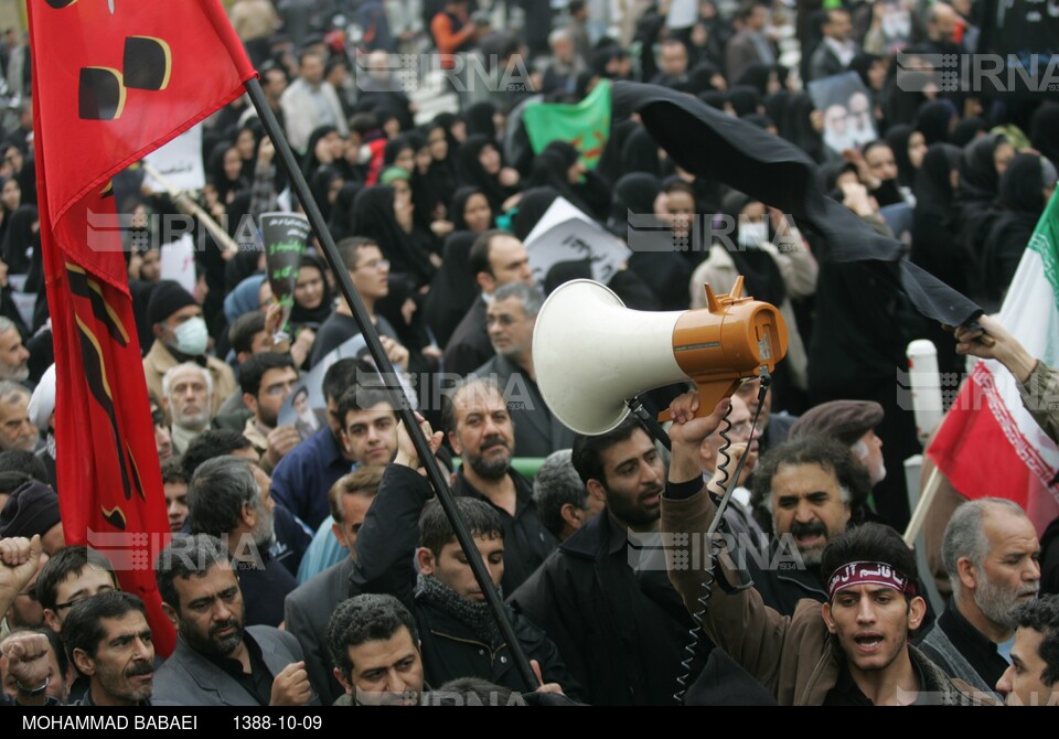
{"label": "long black diagonal pole holding up the red flag", "polygon": [[[320,212],[320,207],[309,192],[309,184],[306,182],[301,168],[298,167],[295,152],[291,151],[290,143],[287,142],[287,138],[279,128],[279,121],[276,120],[276,115],[272,113],[272,109],[268,107],[268,101],[265,99],[265,93],[261,89],[260,82],[256,77],[248,81],[246,83],[246,92],[249,94],[250,103],[253,103],[257,109],[258,116],[260,116],[268,138],[271,139],[276,147],[276,152],[279,154],[279,160],[282,162],[284,169],[287,170],[287,175],[290,178],[290,185],[295,194],[306,210],[309,224],[312,226],[312,231],[315,233],[317,239],[323,248],[323,255],[331,266],[331,271],[334,274],[335,280],[342,290],[342,297],[345,298],[346,303],[353,311],[353,318],[356,320],[356,324],[360,326],[361,333],[367,342],[367,349],[372,354],[372,358],[375,360],[375,366],[378,367],[379,373],[382,373],[384,377],[396,378],[396,371],[386,356],[386,351],[383,349],[382,342],[378,340],[375,325],[364,309],[364,303],[361,302],[361,297],[357,294],[356,288],[353,287],[353,280],[350,278],[349,271],[346,271],[342,259],[339,257],[339,251],[334,246],[331,232],[328,231],[323,214]],[[395,383],[395,385],[396,387],[389,389],[396,393],[404,393],[399,387],[399,383]],[[395,401],[394,405],[396,406],[400,422],[405,425],[405,429],[408,431],[408,436],[416,448],[419,462],[426,468],[427,476],[434,485],[438,501],[440,501],[441,507],[452,524],[452,528],[456,532],[456,540],[459,542],[460,547],[463,549],[467,561],[474,572],[474,579],[478,580],[479,587],[481,587],[482,592],[485,595],[485,600],[493,611],[493,617],[496,619],[496,623],[500,625],[500,630],[507,641],[507,647],[511,650],[515,665],[522,673],[522,678],[527,685],[539,685],[539,681],[530,666],[530,660],[522,649],[522,643],[515,635],[515,631],[507,620],[507,617],[504,615],[503,601],[501,601],[500,595],[496,592],[496,588],[493,586],[493,581],[489,576],[489,571],[485,569],[485,563],[482,561],[482,556],[474,545],[474,539],[471,537],[467,525],[456,508],[452,491],[449,490],[445,475],[441,473],[440,467],[438,467],[438,461],[430,451],[430,445],[427,438],[419,428],[419,424],[416,422],[414,411],[407,403]]]}

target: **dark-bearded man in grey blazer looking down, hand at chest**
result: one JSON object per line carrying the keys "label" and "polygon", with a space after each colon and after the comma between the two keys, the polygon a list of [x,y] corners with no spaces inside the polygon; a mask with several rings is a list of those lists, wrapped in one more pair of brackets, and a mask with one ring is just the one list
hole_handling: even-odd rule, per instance
{"label": "dark-bearded man in grey blazer looking down, hand at chest", "polygon": [[271,626],[245,625],[239,580],[220,539],[196,535],[173,540],[159,555],[154,577],[162,609],[179,636],[158,671],[157,701],[319,705],[298,640]]}

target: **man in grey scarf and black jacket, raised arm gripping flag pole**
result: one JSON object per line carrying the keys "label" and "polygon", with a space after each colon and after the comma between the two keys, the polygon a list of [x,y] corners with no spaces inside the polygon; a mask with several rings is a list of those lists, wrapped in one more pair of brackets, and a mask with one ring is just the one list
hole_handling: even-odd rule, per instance
{"label": "man in grey scarf and black jacket, raised arm gripping flag pole", "polygon": [[[437,450],[441,435],[420,422]],[[481,677],[521,693],[533,692],[537,686],[526,684],[516,667],[445,510],[437,501],[429,502],[434,491],[419,468],[415,447],[402,429],[396,461],[383,473],[378,495],[357,536],[354,585],[362,592],[394,596],[411,611],[429,684]],[[457,497],[456,505],[492,586],[502,593],[506,536],[500,514],[481,500]],[[537,662],[543,682],[576,693],[545,632],[524,615],[505,610],[522,649]]]}

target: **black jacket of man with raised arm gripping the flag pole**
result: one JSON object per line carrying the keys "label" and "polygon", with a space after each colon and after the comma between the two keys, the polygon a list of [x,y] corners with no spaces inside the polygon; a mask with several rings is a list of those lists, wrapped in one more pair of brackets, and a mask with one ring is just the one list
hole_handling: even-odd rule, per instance
{"label": "black jacket of man with raised arm gripping the flag pole", "polygon": [[[426,681],[439,686],[457,677],[482,677],[513,690],[527,692],[506,645],[491,651],[471,629],[425,599],[415,596],[413,554],[419,544],[419,514],[434,491],[414,470],[391,464],[356,538],[357,560],[351,582],[360,592],[384,592],[399,599],[416,619]],[[509,535],[504,537],[507,560]],[[555,644],[525,617],[509,617],[523,650],[541,663],[545,682],[569,693],[577,686],[567,674]],[[535,686],[534,686],[535,687]]]}

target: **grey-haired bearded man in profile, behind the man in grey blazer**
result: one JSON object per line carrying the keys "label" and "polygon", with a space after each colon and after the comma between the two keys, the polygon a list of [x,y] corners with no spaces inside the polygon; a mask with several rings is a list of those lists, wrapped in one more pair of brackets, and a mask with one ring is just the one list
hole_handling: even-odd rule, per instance
{"label": "grey-haired bearded man in profile, behind the man in grey blazer", "polygon": [[[238,457],[217,457],[199,465],[188,490],[192,534],[227,544],[232,569],[246,597],[246,622],[278,626],[284,598],[298,587],[290,571],[269,553],[276,540],[268,475]],[[242,600],[242,598],[240,598]]]}

